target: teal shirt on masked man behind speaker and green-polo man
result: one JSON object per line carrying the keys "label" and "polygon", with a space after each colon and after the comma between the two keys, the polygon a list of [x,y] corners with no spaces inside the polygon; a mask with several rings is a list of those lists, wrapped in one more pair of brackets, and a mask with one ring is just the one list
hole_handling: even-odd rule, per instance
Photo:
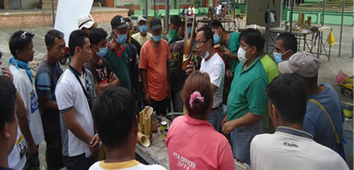
{"label": "teal shirt on masked man behind speaker and green-polo man", "polygon": [[[240,47],[239,36],[240,33],[230,33],[229,46],[227,49],[234,55],[237,55],[237,51]],[[237,64],[239,64],[239,60],[227,60],[227,69],[231,69],[232,74],[234,74]]]}

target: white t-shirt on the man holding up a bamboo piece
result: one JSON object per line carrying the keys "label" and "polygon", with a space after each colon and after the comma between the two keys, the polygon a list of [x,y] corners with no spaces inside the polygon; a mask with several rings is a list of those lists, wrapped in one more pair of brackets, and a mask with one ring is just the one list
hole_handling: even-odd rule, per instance
{"label": "white t-shirt on the man holding up a bamboo piece", "polygon": [[200,72],[209,74],[210,82],[217,86],[214,94],[214,103],[212,108],[216,108],[222,103],[222,93],[224,91],[225,64],[222,58],[215,52],[215,55],[200,63]]}

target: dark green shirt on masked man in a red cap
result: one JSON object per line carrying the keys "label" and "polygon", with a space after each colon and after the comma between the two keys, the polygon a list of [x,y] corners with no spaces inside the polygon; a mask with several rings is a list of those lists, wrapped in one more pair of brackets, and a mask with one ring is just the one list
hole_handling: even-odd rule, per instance
{"label": "dark green shirt on masked man in a red cap", "polygon": [[[105,55],[105,60],[110,64],[115,75],[117,75],[118,79],[120,80],[120,86],[127,88],[128,90],[132,91],[132,81],[130,79],[130,72],[129,72],[129,51],[127,44],[124,44],[125,47],[123,51],[120,53],[116,50],[110,42],[107,42],[108,52]],[[120,53],[120,56],[118,55]]]}

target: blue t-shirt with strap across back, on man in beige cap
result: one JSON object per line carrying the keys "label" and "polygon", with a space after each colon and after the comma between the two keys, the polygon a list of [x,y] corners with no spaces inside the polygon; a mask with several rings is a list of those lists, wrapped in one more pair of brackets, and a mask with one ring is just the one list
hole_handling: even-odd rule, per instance
{"label": "blue t-shirt with strap across back, on man in beige cap", "polygon": [[[323,85],[326,86],[324,91],[321,91],[319,94],[309,96],[307,100],[313,98],[324,106],[326,111],[331,116],[339,139],[342,140],[342,124],[344,116],[341,100],[339,99],[336,91],[333,89],[333,86],[330,84]],[[329,118],[326,113],[324,113],[324,111],[313,102],[307,102],[306,115],[304,117],[302,130],[309,132],[309,134],[314,136],[314,140],[319,144],[333,149],[338,154],[340,153],[340,148],[336,144],[336,137]]]}

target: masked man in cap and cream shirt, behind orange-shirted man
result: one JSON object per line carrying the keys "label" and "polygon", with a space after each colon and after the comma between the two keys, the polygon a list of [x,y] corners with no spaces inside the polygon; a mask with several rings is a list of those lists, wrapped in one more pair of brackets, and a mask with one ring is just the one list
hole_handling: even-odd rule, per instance
{"label": "masked man in cap and cream shirt, behind orange-shirted man", "polygon": [[132,35],[132,38],[137,40],[140,45],[144,45],[144,43],[152,37],[151,33],[147,33],[147,17],[139,16],[137,18],[137,26],[140,31]]}

